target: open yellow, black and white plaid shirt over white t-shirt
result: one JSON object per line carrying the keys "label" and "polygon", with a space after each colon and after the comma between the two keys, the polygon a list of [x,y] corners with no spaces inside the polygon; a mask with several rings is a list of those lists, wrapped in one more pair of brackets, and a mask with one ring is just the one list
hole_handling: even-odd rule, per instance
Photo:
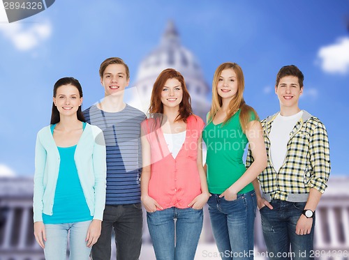
{"label": "open yellow, black and white plaid shirt over white t-shirt", "polygon": [[[283,165],[276,172],[270,158],[269,134],[278,113],[262,120],[268,165],[258,176],[262,192],[271,199],[288,200],[289,194],[309,194],[311,188],[325,192],[331,169],[329,142],[325,125],[315,116],[303,111],[302,118],[290,132],[287,154]],[[253,162],[248,148],[246,168]]]}

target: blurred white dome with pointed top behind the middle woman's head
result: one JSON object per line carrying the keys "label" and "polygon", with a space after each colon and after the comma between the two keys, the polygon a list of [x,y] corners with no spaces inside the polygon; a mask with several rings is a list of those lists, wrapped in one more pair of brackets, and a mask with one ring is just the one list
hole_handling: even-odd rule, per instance
{"label": "blurred white dome with pointed top behind the middle woman's head", "polygon": [[160,72],[166,68],[181,72],[191,94],[193,112],[205,120],[211,105],[207,94],[211,90],[195,56],[181,45],[173,22],[168,22],[160,45],[140,62],[133,86],[136,86],[138,95],[142,98],[138,101],[131,100],[130,105],[147,112],[153,84]]}

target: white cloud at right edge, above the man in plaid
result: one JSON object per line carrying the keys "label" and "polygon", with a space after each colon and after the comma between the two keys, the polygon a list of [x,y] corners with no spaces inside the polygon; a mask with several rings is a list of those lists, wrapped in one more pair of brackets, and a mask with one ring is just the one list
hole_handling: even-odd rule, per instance
{"label": "white cloud at right edge, above the man in plaid", "polygon": [[349,72],[349,37],[339,38],[333,45],[321,47],[318,52],[320,66],[328,73]]}

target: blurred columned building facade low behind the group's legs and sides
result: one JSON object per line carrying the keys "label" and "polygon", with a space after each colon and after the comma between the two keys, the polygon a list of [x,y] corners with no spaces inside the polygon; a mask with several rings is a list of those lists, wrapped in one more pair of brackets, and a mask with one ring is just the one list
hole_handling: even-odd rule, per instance
{"label": "blurred columned building facade low behind the group's legs and sides", "polygon": [[[316,211],[314,253],[318,254],[317,259],[349,259],[348,187],[348,177],[329,179],[328,188]],[[32,178],[0,178],[0,260],[45,259],[43,250],[34,238],[32,198]],[[204,219],[205,225],[199,244],[201,250],[215,248],[207,208]],[[146,226],[143,231],[147,234]],[[143,245],[145,248],[151,247],[147,235],[144,236]],[[265,250],[260,215],[257,214],[255,255],[263,255]],[[144,254],[142,252],[141,259],[151,259]]]}

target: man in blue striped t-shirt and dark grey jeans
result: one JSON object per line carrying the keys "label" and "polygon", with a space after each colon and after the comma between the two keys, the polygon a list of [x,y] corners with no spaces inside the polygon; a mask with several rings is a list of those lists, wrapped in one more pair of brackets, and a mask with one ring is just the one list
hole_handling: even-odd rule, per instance
{"label": "man in blue striped t-shirt and dark grey jeans", "polygon": [[105,98],[83,112],[88,123],[103,130],[107,149],[106,205],[101,236],[91,254],[94,260],[110,259],[114,229],[117,259],[136,260],[142,245],[140,123],[145,115],[124,102],[130,74],[122,59],[106,59],[99,73]]}

